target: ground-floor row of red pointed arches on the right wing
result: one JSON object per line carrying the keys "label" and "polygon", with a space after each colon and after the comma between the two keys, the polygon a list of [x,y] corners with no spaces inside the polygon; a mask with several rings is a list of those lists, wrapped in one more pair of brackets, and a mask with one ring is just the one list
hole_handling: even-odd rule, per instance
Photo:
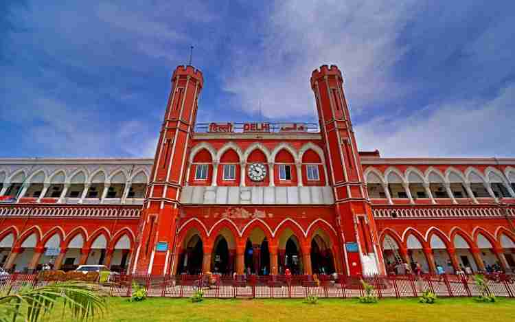
{"label": "ground-floor row of red pointed arches on the right wing", "polygon": [[408,264],[419,263],[426,273],[436,273],[437,265],[451,274],[466,267],[474,273],[488,271],[494,265],[515,271],[515,234],[504,227],[496,233],[476,227],[470,234],[461,229],[448,234],[439,229],[428,229],[425,234],[411,227],[402,234],[385,229],[380,240],[389,271],[397,262],[396,256]]}

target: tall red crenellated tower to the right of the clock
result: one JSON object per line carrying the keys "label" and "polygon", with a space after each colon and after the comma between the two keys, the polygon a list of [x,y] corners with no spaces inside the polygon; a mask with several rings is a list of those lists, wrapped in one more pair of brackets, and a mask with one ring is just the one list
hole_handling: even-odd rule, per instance
{"label": "tall red crenellated tower to the right of the clock", "polygon": [[324,152],[334,192],[344,266],[348,275],[385,273],[379,238],[358,154],[341,71],[322,65],[311,76]]}

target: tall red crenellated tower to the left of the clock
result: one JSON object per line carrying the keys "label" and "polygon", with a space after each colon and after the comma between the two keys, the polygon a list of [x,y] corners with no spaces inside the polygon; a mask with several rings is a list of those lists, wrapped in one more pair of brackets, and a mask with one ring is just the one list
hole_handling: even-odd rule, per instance
{"label": "tall red crenellated tower to the left of the clock", "polygon": [[163,275],[170,271],[179,198],[203,82],[202,72],[192,66],[178,66],[173,73],[172,90],[139,220],[131,273]]}

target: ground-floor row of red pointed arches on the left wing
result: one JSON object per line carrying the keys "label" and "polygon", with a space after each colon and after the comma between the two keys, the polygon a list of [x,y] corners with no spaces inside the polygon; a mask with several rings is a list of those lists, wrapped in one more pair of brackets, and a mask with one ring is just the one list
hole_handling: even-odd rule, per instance
{"label": "ground-floor row of red pointed arches on the left wing", "polygon": [[88,235],[80,227],[69,233],[55,227],[44,234],[39,227],[23,233],[9,227],[0,232],[0,265],[5,270],[17,272],[32,272],[49,262],[56,270],[69,271],[79,265],[102,264],[113,271],[125,271],[130,264],[134,240],[130,229],[121,229],[111,235],[108,229],[100,228]]}

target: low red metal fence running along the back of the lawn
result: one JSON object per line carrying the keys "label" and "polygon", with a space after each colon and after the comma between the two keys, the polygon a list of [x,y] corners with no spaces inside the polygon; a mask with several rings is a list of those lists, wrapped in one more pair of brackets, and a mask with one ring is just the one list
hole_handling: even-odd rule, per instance
{"label": "low red metal fence running along the back of the lawn", "polygon": [[[512,275],[487,275],[488,290],[498,297],[515,297]],[[204,297],[213,298],[305,298],[314,295],[319,298],[342,298],[363,296],[365,290],[361,280],[373,286],[372,295],[383,297],[419,297],[426,290],[433,290],[439,297],[477,297],[481,290],[473,277],[465,275],[389,275],[347,277],[334,279],[321,275],[117,275],[105,284],[110,294],[130,297],[133,284],[144,287],[149,297],[191,297],[196,290],[202,290]],[[41,275],[13,274],[0,277],[0,292],[14,292],[21,287],[36,287],[52,281],[41,279]]]}

